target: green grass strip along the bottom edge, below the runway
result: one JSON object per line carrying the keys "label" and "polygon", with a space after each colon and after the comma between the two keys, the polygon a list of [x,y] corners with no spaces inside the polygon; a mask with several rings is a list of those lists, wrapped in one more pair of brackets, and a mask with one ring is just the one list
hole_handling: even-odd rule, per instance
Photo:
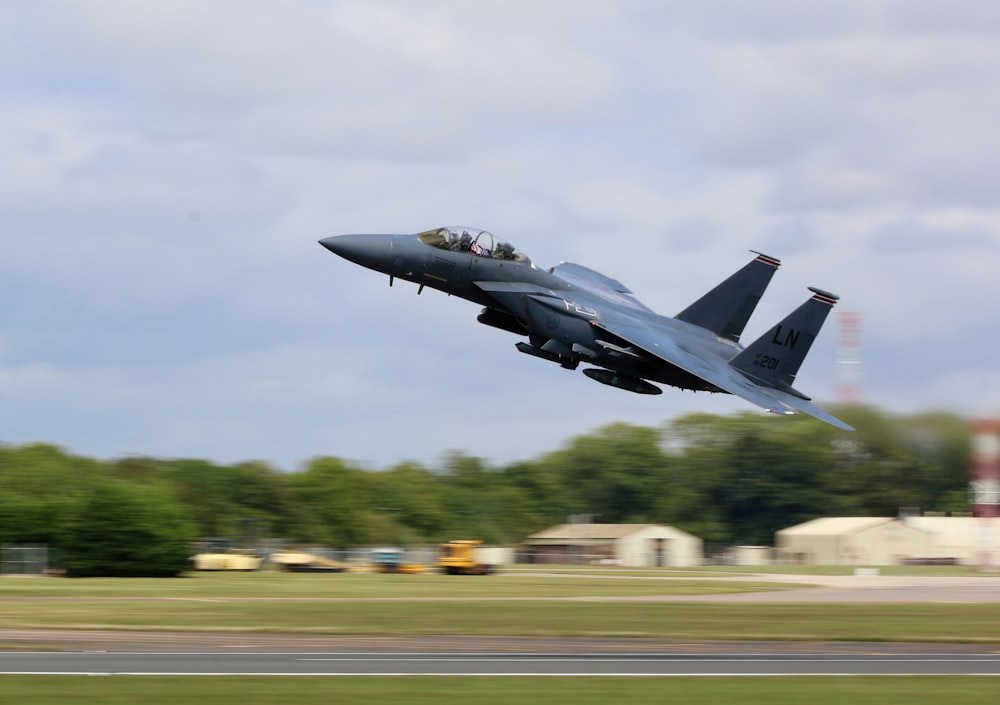
{"label": "green grass strip along the bottom edge, below the runway", "polygon": [[756,678],[0,676],[4,702],[32,705],[993,705],[997,681],[958,676]]}

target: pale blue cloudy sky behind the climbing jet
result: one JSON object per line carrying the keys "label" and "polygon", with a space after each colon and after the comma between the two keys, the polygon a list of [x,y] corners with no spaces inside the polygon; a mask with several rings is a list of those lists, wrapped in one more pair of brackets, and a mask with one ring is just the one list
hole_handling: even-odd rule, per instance
{"label": "pale blue cloudy sky behind the climbing jet", "polygon": [[853,311],[865,402],[995,416],[998,130],[993,0],[4,0],[0,442],[506,464],[756,409],[596,384],[317,244],[442,225],[666,315],[764,252],[744,342],[841,296],[799,389],[837,400]]}

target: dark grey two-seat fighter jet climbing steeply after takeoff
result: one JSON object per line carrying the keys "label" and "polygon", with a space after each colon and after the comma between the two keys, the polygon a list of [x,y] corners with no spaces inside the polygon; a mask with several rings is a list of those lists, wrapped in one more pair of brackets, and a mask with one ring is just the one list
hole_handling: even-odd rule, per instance
{"label": "dark grey two-seat fighter jet climbing steeply after takeoff", "polygon": [[811,296],[744,347],[740,336],[781,262],[751,251],[742,269],[673,318],[640,303],[621,282],[579,264],[537,267],[486,230],[442,227],[415,235],[337,235],[331,252],[483,307],[478,320],[527,338],[515,347],[589,378],[639,394],[653,382],[735,394],[775,414],[802,412],[854,430],[792,383],[838,296]]}

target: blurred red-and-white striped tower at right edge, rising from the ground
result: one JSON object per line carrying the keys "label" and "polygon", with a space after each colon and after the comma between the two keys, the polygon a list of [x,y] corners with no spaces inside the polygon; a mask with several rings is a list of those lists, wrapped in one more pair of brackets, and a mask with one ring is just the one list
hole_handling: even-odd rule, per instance
{"label": "blurred red-and-white striped tower at right edge, rising from the ground", "polygon": [[1000,507],[1000,423],[980,419],[973,424],[972,458],[969,467],[969,504],[980,517],[980,570],[994,570],[996,516]]}

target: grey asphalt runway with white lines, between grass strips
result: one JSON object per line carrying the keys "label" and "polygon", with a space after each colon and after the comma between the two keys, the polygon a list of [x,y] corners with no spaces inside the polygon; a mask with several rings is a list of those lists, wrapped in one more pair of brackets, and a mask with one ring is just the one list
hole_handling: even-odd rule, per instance
{"label": "grey asphalt runway with white lines, between grass strips", "polygon": [[1000,675],[975,653],[5,652],[2,674],[267,676]]}

